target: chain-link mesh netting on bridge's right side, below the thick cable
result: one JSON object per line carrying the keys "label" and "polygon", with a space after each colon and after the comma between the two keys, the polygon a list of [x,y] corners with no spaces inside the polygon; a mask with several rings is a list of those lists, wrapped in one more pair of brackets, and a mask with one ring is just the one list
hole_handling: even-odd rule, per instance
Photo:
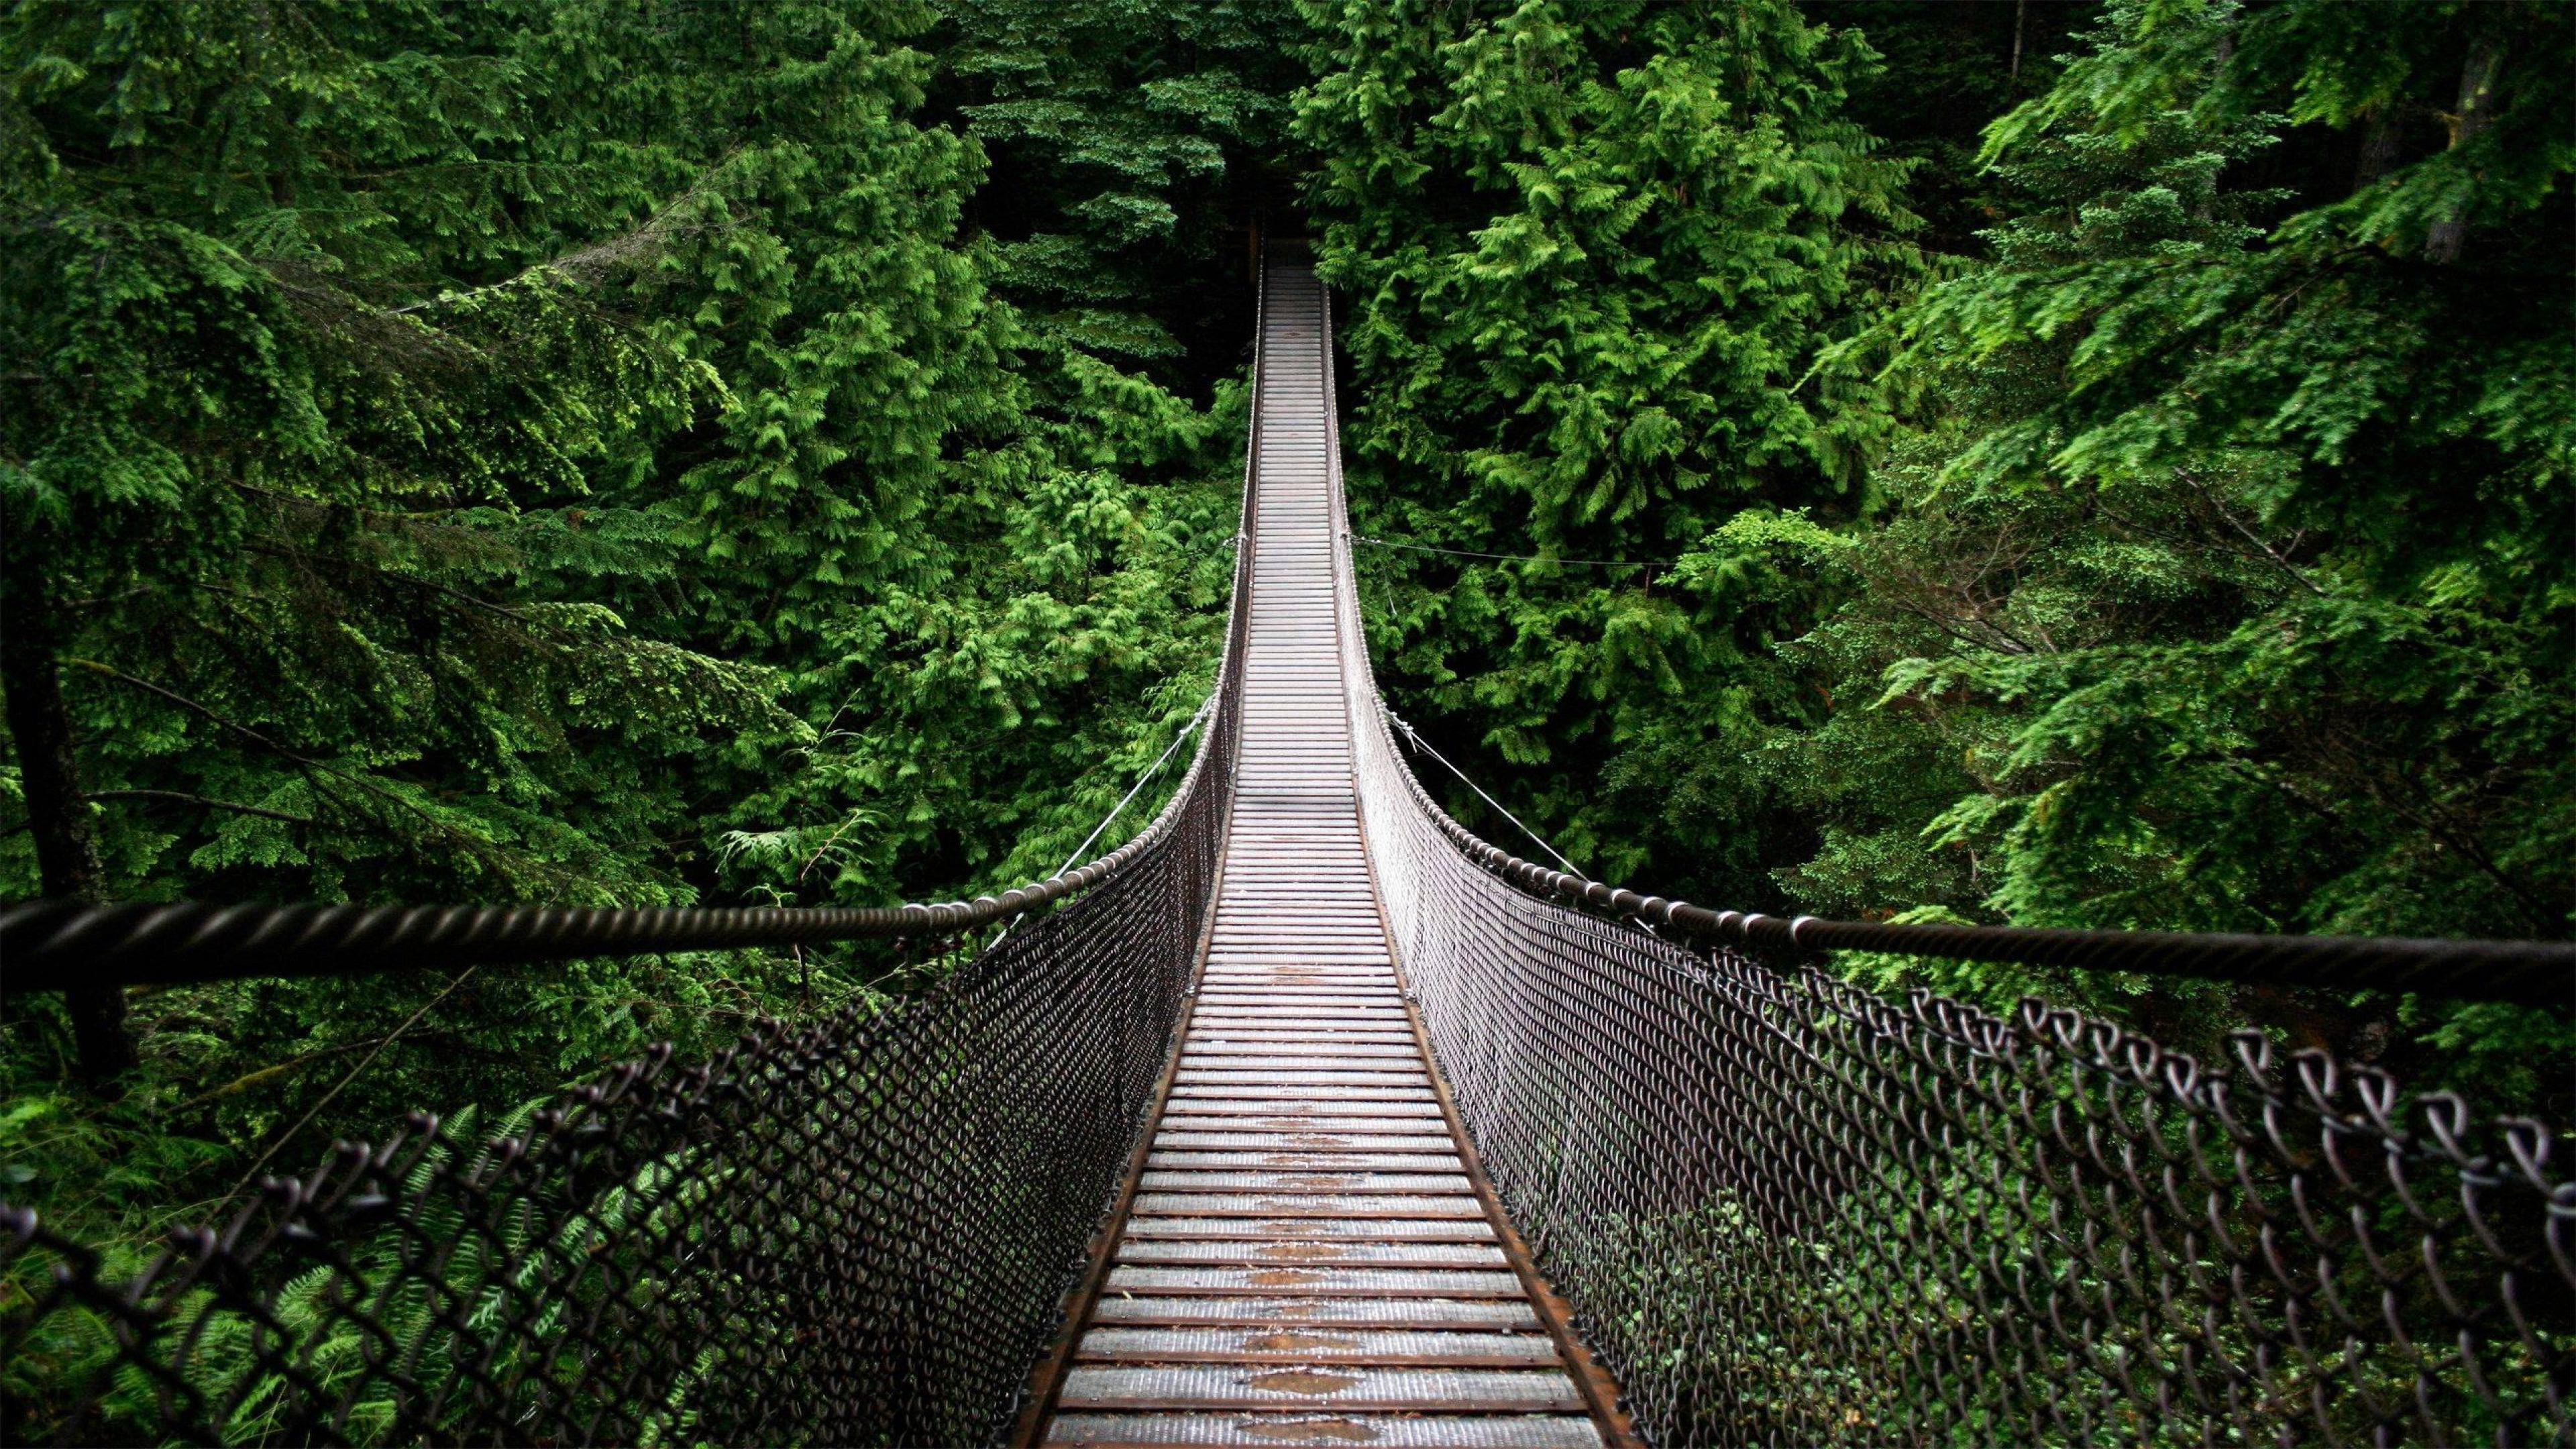
{"label": "chain-link mesh netting on bridge's right side, below the thick cable", "polygon": [[1383,730],[1360,758],[1461,1122],[1654,1441],[2576,1444],[2540,1122],[1695,954],[1486,874]]}

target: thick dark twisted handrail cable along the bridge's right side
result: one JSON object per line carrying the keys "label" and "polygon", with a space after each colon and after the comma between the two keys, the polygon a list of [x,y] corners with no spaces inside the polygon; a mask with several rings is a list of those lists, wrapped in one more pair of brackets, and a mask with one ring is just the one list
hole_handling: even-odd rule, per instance
{"label": "thick dark twisted handrail cable along the bridge's right side", "polygon": [[2576,944],[2568,941],[1901,926],[1708,910],[1705,905],[1638,895],[1525,861],[1450,820],[1440,810],[1440,802],[1422,789],[1419,779],[1406,773],[1406,784],[1422,810],[1458,846],[1458,853],[1522,895],[1628,920],[1659,936],[1736,946],[1770,962],[1795,962],[1821,951],[1891,951],[1963,962],[2020,962],[2334,990],[2411,990],[2463,1000],[2576,1008]]}

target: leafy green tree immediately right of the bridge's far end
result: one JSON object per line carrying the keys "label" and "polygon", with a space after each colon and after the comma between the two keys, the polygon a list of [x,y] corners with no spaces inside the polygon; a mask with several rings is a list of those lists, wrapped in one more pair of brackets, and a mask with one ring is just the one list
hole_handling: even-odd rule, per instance
{"label": "leafy green tree immediately right of the bridge's far end", "polygon": [[[1873,64],[1855,34],[1777,0],[1306,13],[1363,534],[1669,559],[1747,505],[1857,500],[1868,410],[1811,374],[1909,253],[1904,168],[1839,116]],[[1363,572],[1396,706],[1510,773],[1558,848],[1682,892],[1757,874],[1734,843],[1767,797],[1685,761],[1798,706],[1770,642],[1801,601],[1556,562]]]}

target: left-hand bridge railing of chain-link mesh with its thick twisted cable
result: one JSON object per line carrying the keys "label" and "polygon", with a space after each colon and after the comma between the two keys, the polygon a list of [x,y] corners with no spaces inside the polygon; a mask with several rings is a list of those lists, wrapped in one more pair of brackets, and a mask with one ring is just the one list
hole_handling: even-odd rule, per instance
{"label": "left-hand bridge railing of chain-link mesh with its thick twisted cable", "polygon": [[[1244,508],[1249,536],[1249,487]],[[10,913],[13,990],[860,936],[971,959],[714,1062],[631,1062],[500,1132],[417,1114],[142,1256],[0,1204],[0,1444],[999,1439],[1177,1039],[1234,789],[1249,554],[1172,802],[999,900]]]}

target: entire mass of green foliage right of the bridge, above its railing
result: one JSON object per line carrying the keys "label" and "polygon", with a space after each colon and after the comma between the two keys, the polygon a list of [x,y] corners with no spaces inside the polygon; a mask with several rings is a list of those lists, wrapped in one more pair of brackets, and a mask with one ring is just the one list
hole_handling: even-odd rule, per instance
{"label": "entire mass of green foliage right of the bridge, above its railing", "polygon": [[[1540,557],[1363,552],[1388,694],[1587,869],[1723,905],[2566,936],[2566,10],[1306,10],[1358,529]],[[1847,967],[2496,1101],[2576,1060]]]}

